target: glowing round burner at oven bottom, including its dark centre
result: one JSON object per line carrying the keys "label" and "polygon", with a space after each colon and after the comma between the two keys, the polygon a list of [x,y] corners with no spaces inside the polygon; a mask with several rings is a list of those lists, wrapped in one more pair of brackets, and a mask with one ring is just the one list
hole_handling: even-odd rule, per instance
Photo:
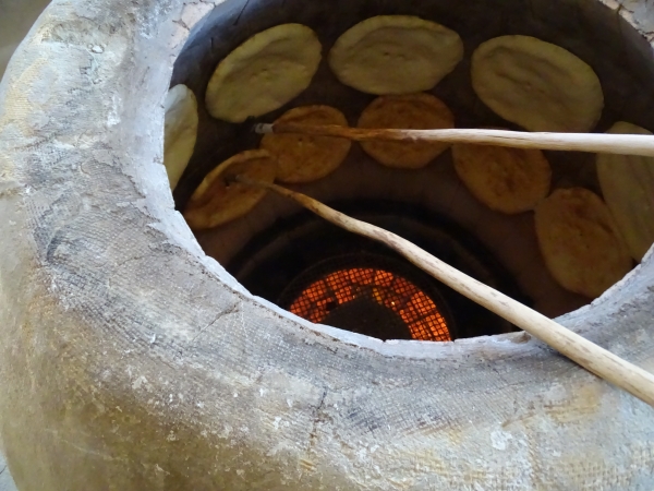
{"label": "glowing round burner at oven bottom, including its dark centre", "polygon": [[447,322],[422,289],[399,274],[353,267],[326,274],[304,288],[289,310],[316,323],[383,339],[451,340]]}

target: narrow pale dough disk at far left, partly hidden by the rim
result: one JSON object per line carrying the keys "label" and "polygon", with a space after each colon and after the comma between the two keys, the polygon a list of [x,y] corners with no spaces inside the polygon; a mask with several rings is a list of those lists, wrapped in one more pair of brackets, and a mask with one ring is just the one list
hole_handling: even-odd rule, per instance
{"label": "narrow pale dough disk at far left, partly hidden by the rim", "polygon": [[191,160],[197,137],[197,100],[185,85],[175,85],[166,96],[164,166],[174,190]]}

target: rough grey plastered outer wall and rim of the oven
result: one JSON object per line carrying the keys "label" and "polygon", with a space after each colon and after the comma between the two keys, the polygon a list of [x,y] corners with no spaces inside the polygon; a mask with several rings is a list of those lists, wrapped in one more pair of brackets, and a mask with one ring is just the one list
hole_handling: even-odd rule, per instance
{"label": "rough grey plastered outer wall and rim of the oven", "polygon": [[[56,0],[0,84],[19,488],[652,489],[654,409],[530,336],[384,344],[280,312],[203,254],[168,190],[162,100],[213,8]],[[653,278],[650,253],[560,322],[654,370]]]}

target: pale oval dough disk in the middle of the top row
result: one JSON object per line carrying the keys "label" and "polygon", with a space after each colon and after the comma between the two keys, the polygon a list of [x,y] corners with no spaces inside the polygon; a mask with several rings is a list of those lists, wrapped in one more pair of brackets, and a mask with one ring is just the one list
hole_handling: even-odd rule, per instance
{"label": "pale oval dough disk in the middle of the top row", "polygon": [[457,33],[411,15],[366,19],[342,34],[329,65],[346,85],[367,94],[428,91],[463,58]]}

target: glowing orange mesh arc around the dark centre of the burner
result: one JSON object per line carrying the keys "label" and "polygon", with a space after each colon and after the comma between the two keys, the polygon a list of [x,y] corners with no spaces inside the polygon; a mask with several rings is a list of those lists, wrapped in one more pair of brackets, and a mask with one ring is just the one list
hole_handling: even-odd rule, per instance
{"label": "glowing orange mesh arc around the dark centre of the burner", "polygon": [[[413,339],[451,340],[447,322],[434,299],[405,275],[388,267],[349,267],[329,273],[324,272],[325,267],[322,270],[317,279],[314,275],[308,286],[295,289],[288,310],[320,323],[337,318],[335,313],[346,306],[372,301],[388,309],[389,319],[399,316]],[[289,292],[284,294],[288,297]]]}

